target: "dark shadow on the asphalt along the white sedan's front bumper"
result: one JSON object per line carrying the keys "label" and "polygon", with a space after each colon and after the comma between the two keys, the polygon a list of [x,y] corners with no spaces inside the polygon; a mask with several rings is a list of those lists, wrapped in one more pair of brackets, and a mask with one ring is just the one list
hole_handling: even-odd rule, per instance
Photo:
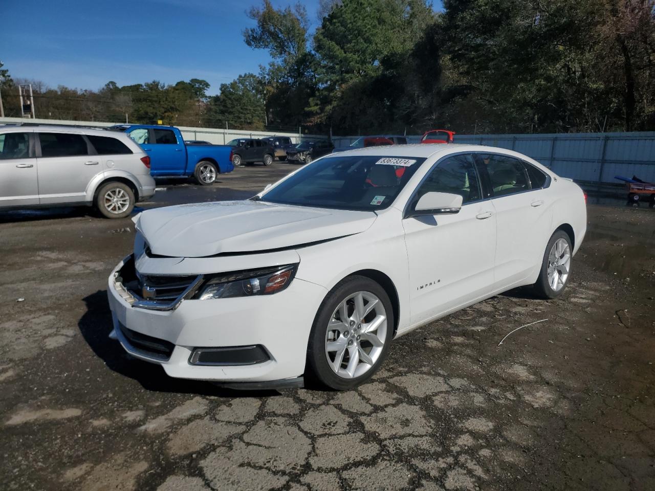
{"label": "dark shadow on the asphalt along the white sedan's front bumper", "polygon": [[145,390],[168,393],[189,393],[214,397],[269,397],[279,395],[276,390],[233,390],[221,388],[202,380],[187,380],[168,376],[162,367],[131,357],[117,340],[109,339],[111,311],[107,303],[107,291],[99,290],[84,297],[86,312],[77,325],[86,344],[105,362],[107,368],[132,378]]}

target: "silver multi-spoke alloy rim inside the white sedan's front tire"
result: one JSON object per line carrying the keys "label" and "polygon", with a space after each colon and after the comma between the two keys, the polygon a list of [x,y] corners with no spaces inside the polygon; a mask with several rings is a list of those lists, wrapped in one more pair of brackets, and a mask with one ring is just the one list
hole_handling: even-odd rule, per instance
{"label": "silver multi-spoke alloy rim inside the white sedan's front tire", "polygon": [[362,376],[375,365],[386,339],[383,302],[369,291],[348,295],[327,325],[327,364],[341,378]]}

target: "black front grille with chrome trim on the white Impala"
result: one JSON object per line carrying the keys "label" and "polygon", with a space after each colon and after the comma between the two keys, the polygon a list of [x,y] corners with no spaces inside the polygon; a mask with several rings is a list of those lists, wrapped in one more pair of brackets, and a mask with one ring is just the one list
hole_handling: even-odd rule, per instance
{"label": "black front grille with chrome trim on the white Impala", "polygon": [[134,297],[135,307],[170,310],[185,297],[193,294],[202,276],[159,276],[139,274],[134,267],[134,256],[123,265],[116,281]]}

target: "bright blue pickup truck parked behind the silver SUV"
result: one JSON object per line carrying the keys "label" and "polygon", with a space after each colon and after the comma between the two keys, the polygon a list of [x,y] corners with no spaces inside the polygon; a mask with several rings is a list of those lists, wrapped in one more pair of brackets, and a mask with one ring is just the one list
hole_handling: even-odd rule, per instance
{"label": "bright blue pickup truck parked behind the silver SUV", "polygon": [[153,177],[192,176],[208,186],[219,173],[232,172],[232,149],[227,145],[186,145],[174,126],[117,124],[111,130],[124,132],[150,156]]}

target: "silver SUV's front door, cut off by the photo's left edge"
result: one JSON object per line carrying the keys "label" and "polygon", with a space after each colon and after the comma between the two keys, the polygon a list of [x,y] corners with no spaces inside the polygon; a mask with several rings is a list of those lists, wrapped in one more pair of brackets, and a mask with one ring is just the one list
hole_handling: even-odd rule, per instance
{"label": "silver SUV's front door, cut off by the photo's left edge", "polygon": [[0,206],[39,204],[33,132],[0,134]]}

